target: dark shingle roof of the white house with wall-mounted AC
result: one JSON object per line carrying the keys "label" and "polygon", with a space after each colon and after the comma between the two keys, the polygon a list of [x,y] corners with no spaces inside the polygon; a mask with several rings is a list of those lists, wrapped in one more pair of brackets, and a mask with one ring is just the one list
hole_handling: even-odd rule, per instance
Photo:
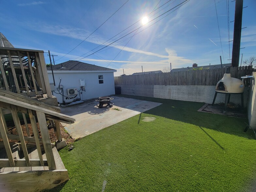
{"label": "dark shingle roof of the white house with wall-mounted AC", "polygon": [[[63,68],[61,68],[63,66]],[[51,67],[47,67],[47,70],[52,70]],[[54,71],[113,71],[114,69],[109,69],[105,67],[100,67],[97,65],[92,65],[88,63],[83,63],[80,61],[66,61],[57,65],[53,65]],[[116,70],[114,70],[116,71]]]}

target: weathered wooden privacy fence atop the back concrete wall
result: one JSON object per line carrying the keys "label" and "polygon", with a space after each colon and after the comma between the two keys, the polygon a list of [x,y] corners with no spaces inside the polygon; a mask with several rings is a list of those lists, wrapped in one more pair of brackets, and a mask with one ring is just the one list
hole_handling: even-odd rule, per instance
{"label": "weathered wooden privacy fence atop the back concrete wall", "polygon": [[[241,79],[250,75],[251,66],[231,67],[231,77]],[[152,73],[142,75],[125,75],[114,77],[115,85],[216,85],[223,77],[226,68],[181,71],[168,73]]]}

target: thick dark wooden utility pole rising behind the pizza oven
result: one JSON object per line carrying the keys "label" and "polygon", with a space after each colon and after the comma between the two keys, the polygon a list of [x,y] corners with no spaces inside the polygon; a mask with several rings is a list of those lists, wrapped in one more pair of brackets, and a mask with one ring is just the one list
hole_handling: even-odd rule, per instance
{"label": "thick dark wooden utility pole rising behind the pizza oven", "polygon": [[232,49],[232,67],[239,66],[242,15],[243,15],[243,0],[236,0],[235,1],[233,49]]}

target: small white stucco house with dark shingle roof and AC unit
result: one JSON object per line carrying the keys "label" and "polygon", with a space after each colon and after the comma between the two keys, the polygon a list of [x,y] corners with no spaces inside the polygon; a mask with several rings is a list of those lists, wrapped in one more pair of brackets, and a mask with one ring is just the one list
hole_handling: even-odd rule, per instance
{"label": "small white stucco house with dark shingle roof and AC unit", "polygon": [[70,60],[53,65],[54,86],[52,69],[47,67],[53,95],[60,104],[115,94],[114,72],[114,69]]}

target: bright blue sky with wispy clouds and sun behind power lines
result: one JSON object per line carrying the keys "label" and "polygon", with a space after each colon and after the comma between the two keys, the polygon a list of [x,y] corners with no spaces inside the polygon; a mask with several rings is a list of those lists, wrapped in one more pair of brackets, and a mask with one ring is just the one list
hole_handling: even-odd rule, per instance
{"label": "bright blue sky with wispy clouds and sun behind power lines", "polygon": [[[150,14],[151,21],[184,0],[172,0],[161,8],[159,7],[168,0],[129,0],[120,8],[126,1],[2,1],[0,32],[14,47],[45,52],[50,50],[51,54],[58,55],[55,57],[56,63],[61,63],[77,57],[81,59],[79,56],[101,45],[144,16]],[[248,7],[243,9],[242,27],[247,28],[242,29],[241,37],[241,48],[246,48],[240,51],[241,54],[244,53],[243,59],[256,56],[256,1],[244,0],[244,7],[246,6]],[[192,66],[192,63],[198,63],[199,66],[220,64],[220,55],[224,56],[224,63],[229,63],[228,59],[232,57],[232,42],[229,51],[227,1],[216,0],[216,8],[222,49],[215,1],[190,0],[177,10],[173,9],[148,24],[136,23],[125,32],[142,25],[138,31],[91,56],[88,55],[102,46],[85,54],[84,56],[88,57],[80,61],[116,69],[115,76],[122,74],[122,69],[126,74],[141,72],[141,66],[143,71],[162,70],[169,67],[170,62],[172,68]],[[229,0],[230,21],[234,20],[234,8],[235,2]],[[118,11],[104,23],[116,10]],[[155,23],[156,21],[158,22]],[[103,25],[98,30],[82,42],[101,24]],[[234,22],[230,23],[230,40],[233,37],[233,24]],[[109,41],[111,42],[113,41]],[[81,44],[76,47],[79,43]],[[76,48],[70,52],[74,47]],[[66,55],[68,52],[70,53]],[[45,61],[49,63],[47,53]]]}

